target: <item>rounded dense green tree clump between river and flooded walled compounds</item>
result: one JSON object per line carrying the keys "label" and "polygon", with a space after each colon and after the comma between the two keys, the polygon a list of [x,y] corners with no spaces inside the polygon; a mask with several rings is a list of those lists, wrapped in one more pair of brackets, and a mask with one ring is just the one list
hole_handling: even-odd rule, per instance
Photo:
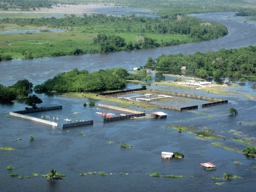
{"label": "rounded dense green tree clump between river and flooded walled compounds", "polygon": [[35,91],[57,92],[100,92],[118,90],[126,86],[126,79],[142,80],[146,77],[145,70],[135,74],[123,68],[99,70],[89,73],[87,70],[63,72],[44,83],[34,87]]}

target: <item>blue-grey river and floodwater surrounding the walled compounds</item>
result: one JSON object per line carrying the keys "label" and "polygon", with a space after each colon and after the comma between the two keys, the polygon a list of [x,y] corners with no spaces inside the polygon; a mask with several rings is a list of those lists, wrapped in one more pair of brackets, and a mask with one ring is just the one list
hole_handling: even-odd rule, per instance
{"label": "blue-grey river and floodwater surrounding the walled compounds", "polygon": [[[193,53],[254,46],[256,44],[255,23],[243,23],[242,18],[233,18],[232,15],[232,13],[197,15],[200,18],[217,20],[228,27],[229,34],[220,39],[130,52],[2,61],[0,62],[0,82],[10,86],[17,80],[27,78],[35,85],[57,73],[70,71],[73,68],[87,69],[90,72],[113,67],[131,69],[144,65],[148,56],[156,58],[161,53]],[[227,18],[227,16],[231,17]],[[128,84],[125,89],[138,87],[140,87],[139,84]],[[44,112],[45,115],[50,116],[50,120],[53,116],[60,117],[59,125],[66,123],[63,119],[67,117],[74,120],[94,120],[93,125],[63,130],[61,126],[52,127],[20,118],[8,118],[4,113],[23,110],[25,105],[1,104],[0,147],[15,148],[15,151],[0,151],[1,191],[254,191],[256,170],[252,166],[256,165],[255,159],[221,147],[217,148],[211,143],[220,142],[223,146],[238,151],[243,150],[247,145],[235,142],[232,138],[256,137],[256,101],[243,96],[215,95],[192,89],[173,90],[164,86],[156,87],[154,84],[148,87],[223,98],[228,99],[228,103],[187,112],[145,110],[146,114],[162,111],[168,115],[166,119],[136,118],[103,123],[102,117],[95,113],[102,111],[96,108],[97,103],[105,103],[103,101],[96,101],[96,106],[92,108],[82,105],[84,102],[89,102],[86,98],[68,99],[38,94],[43,101],[40,105],[63,106],[62,110]],[[246,82],[245,86],[232,90],[256,95],[251,88],[251,82]],[[230,115],[227,111],[229,108],[237,109],[239,114]],[[81,113],[74,114],[75,112]],[[120,113],[109,110],[108,112],[116,115]],[[40,117],[41,114],[31,115]],[[213,129],[226,140],[200,140],[194,135],[165,128],[166,125],[174,124]],[[237,131],[236,135],[232,130]],[[80,134],[82,131],[85,136]],[[34,140],[31,141],[29,135],[33,135]],[[18,138],[22,140],[13,141]],[[108,141],[114,143],[109,144]],[[133,147],[122,148],[121,142]],[[255,145],[255,143],[252,144]],[[161,152],[179,152],[185,157],[162,160]],[[236,165],[234,161],[242,164]],[[207,171],[200,167],[200,163],[206,162],[217,165],[217,169]],[[7,170],[7,166],[15,169]],[[66,180],[46,181],[46,178],[41,177],[49,173],[52,168],[61,174],[66,174]],[[105,172],[108,175],[80,176],[80,173],[88,172]],[[146,175],[153,172],[158,172],[160,175],[173,174],[185,177],[164,178]],[[11,177],[10,173],[24,175],[25,178]],[[33,173],[39,176],[26,177]],[[211,176],[222,177],[223,173],[241,176],[242,179],[227,181],[210,178]],[[216,182],[225,183],[218,186]]]}

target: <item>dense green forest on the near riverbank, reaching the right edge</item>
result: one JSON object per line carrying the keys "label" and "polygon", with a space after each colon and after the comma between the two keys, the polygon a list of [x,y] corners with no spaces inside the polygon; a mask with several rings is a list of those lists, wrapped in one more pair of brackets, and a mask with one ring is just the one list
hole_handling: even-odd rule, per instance
{"label": "dense green forest on the near riverbank, reaching the right edge", "polygon": [[175,73],[180,73],[182,66],[199,77],[212,77],[217,82],[222,82],[225,77],[249,77],[256,81],[256,46],[194,54],[162,54],[156,59],[149,57],[145,64],[146,68]]}

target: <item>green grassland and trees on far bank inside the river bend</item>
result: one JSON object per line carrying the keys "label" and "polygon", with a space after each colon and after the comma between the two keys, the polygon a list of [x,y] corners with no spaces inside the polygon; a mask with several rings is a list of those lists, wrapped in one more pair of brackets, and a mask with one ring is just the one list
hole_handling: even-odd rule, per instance
{"label": "green grassland and trees on far bank inside the river bend", "polygon": [[[0,60],[17,54],[37,58],[173,46],[215,39],[228,33],[222,24],[186,15],[150,18],[134,14],[122,17],[73,14],[63,18],[3,18],[0,24],[71,30],[68,34],[2,34],[5,38],[0,40]],[[47,35],[45,39],[44,35]]]}

